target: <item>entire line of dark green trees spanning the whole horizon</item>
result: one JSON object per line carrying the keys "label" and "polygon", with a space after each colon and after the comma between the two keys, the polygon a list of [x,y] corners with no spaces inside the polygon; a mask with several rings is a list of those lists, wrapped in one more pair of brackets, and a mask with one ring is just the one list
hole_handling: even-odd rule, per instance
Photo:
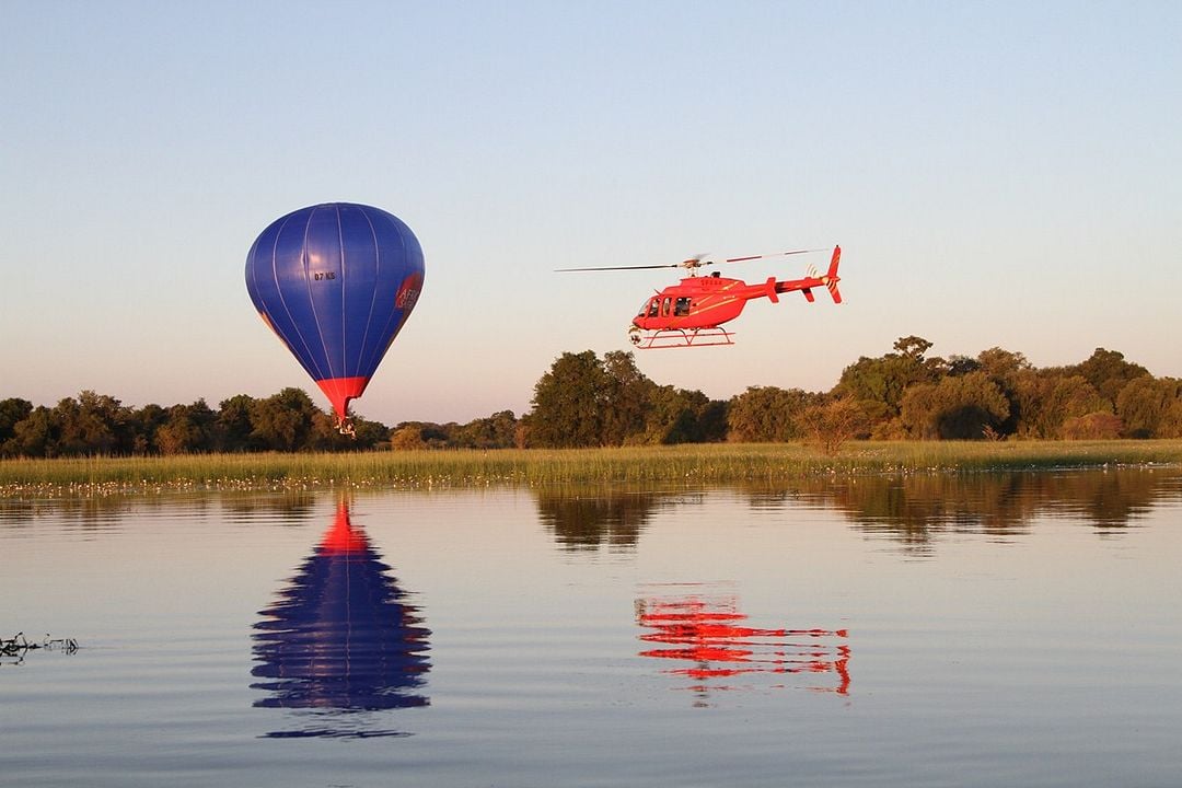
{"label": "entire line of dark green trees spanning the whole horizon", "polygon": [[129,408],[83,391],[57,405],[0,400],[0,456],[175,455],[213,451],[578,448],[807,441],[833,451],[850,438],[1176,438],[1182,380],[1156,378],[1103,347],[1071,366],[1035,367],[992,347],[975,358],[929,356],[900,338],[892,351],[846,366],[827,392],[749,386],[728,400],[660,385],[631,352],[563,353],[534,385],[532,409],[466,424],[355,417],[342,436],[300,389],[236,395],[210,408]]}

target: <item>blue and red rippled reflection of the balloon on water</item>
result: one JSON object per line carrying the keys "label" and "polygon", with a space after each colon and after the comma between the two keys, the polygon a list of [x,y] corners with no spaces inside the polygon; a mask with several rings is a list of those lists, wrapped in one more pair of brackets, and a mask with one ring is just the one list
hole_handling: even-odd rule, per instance
{"label": "blue and red rippled reflection of the balloon on water", "polygon": [[342,503],[320,543],[254,625],[258,708],[301,710],[291,736],[397,736],[376,712],[426,706],[430,631]]}

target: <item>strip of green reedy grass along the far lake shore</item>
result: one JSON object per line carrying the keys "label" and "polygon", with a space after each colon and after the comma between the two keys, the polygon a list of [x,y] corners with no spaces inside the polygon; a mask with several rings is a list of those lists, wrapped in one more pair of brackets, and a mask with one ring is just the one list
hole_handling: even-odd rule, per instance
{"label": "strip of green reedy grass along the far lake shore", "polygon": [[801,477],[1067,470],[1182,464],[1182,439],[851,441],[598,449],[201,454],[0,460],[0,497],[217,490],[702,486]]}

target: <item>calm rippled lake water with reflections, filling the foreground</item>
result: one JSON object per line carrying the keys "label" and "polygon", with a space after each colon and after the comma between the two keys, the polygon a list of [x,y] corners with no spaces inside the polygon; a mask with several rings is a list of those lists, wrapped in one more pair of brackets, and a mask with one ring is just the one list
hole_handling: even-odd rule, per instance
{"label": "calm rippled lake water with reflections, filling the foreground", "polygon": [[1178,786],[1182,471],[0,501],[0,783]]}

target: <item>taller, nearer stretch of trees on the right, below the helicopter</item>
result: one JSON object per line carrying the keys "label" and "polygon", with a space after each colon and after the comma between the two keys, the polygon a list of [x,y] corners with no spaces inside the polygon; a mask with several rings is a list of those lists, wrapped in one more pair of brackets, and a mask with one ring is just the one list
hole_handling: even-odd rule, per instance
{"label": "taller, nearer stretch of trees on the right, below the helicopter", "polygon": [[631,353],[564,353],[521,428],[539,447],[806,441],[827,451],[851,438],[1182,437],[1182,380],[1155,378],[1117,351],[1039,369],[1000,347],[947,359],[930,349],[902,337],[846,366],[827,392],[749,386],[726,402],[652,383]]}

